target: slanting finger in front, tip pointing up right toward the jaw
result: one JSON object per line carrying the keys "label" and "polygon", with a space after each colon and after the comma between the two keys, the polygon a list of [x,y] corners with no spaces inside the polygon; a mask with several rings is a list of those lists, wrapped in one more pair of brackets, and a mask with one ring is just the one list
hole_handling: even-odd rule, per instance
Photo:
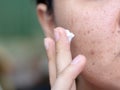
{"label": "slanting finger in front, tip pointing up right toward the jaw", "polygon": [[82,72],[85,63],[85,57],[78,55],[72,61],[72,63],[58,76],[55,85],[52,87],[52,90],[71,90],[74,80]]}

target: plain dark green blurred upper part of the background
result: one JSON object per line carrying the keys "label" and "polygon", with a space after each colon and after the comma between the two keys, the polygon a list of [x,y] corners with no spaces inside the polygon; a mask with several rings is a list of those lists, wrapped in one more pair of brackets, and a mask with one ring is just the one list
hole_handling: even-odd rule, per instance
{"label": "plain dark green blurred upper part of the background", "polygon": [[0,32],[2,36],[42,35],[35,0],[0,0]]}

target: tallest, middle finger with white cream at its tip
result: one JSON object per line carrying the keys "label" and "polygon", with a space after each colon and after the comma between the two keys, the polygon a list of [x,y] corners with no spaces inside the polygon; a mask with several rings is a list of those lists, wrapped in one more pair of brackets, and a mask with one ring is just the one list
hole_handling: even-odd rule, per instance
{"label": "tallest, middle finger with white cream at its tip", "polygon": [[68,64],[71,62],[71,51],[70,43],[68,37],[65,33],[65,29],[56,28],[55,29],[55,38],[56,38],[56,64],[57,64],[57,73],[59,74]]}

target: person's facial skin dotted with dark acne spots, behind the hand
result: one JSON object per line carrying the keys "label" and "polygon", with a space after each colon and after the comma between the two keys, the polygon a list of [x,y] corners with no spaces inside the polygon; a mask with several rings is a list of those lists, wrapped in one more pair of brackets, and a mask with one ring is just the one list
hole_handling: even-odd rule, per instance
{"label": "person's facial skin dotted with dark acne spots, behind the hand", "polygon": [[46,36],[58,26],[71,30],[72,58],[87,58],[78,77],[78,86],[86,88],[80,90],[120,90],[120,0],[54,0],[48,17],[42,23]]}

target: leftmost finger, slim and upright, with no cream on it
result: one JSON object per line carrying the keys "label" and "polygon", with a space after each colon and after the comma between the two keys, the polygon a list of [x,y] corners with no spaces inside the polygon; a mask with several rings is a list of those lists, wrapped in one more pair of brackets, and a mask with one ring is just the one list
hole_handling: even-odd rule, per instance
{"label": "leftmost finger, slim and upright, with no cream on it", "polygon": [[52,86],[56,80],[55,42],[51,38],[45,38],[44,44],[48,56],[50,85]]}

